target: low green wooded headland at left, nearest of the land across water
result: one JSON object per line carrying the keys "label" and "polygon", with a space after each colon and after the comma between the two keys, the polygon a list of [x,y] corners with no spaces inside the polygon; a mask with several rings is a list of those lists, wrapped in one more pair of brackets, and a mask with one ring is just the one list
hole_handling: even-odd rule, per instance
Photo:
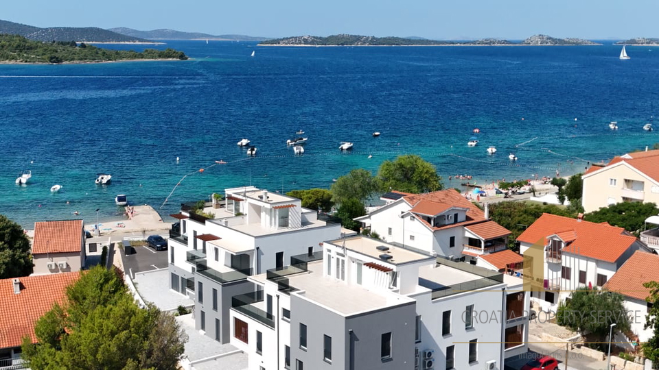
{"label": "low green wooded headland at left, nearest of the land across water", "polygon": [[119,60],[186,60],[183,51],[174,49],[108,50],[75,41],[41,42],[19,35],[0,34],[0,63],[91,63]]}

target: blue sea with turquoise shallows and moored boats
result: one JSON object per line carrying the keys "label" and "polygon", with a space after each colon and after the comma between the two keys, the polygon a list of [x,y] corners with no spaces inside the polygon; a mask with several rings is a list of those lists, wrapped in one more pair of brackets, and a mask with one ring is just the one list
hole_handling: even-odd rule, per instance
{"label": "blue sea with turquoise shallows and moored boats", "polygon": [[[156,46],[165,47],[192,60],[0,65],[1,214],[27,228],[75,211],[95,223],[97,208],[101,219],[119,217],[114,198],[126,194],[169,221],[181,202],[224,188],[327,188],[350,169],[377,171],[403,153],[419,154],[446,186],[459,187],[449,175],[478,182],[568,175],[659,142],[656,132],[642,130],[659,109],[659,48],[627,47],[632,59],[619,60],[620,47],[610,42]],[[476,128],[480,143],[467,147]],[[286,146],[297,130],[309,138],[299,157]],[[373,138],[376,131],[382,135]],[[236,145],[241,138],[257,147],[256,158]],[[340,153],[342,141],[354,150]],[[494,156],[486,153],[490,145]],[[511,152],[517,162],[508,160]],[[23,170],[32,180],[17,186]],[[113,181],[96,186],[103,172]],[[50,192],[54,184],[63,186],[59,193]]]}

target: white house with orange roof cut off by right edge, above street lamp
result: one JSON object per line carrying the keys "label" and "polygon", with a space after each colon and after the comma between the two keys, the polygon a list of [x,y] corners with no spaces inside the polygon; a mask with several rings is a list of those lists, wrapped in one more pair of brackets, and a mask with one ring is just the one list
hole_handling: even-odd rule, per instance
{"label": "white house with orange roof cut off by right edge, above street lamp", "polygon": [[637,251],[604,284],[605,289],[618,292],[625,297],[625,308],[631,312],[632,332],[638,335],[638,340],[641,342],[647,341],[654,335],[652,328],[644,328],[645,315],[655,302],[646,300],[650,295],[650,289],[645,288],[643,284],[659,282],[658,266],[659,256]]}

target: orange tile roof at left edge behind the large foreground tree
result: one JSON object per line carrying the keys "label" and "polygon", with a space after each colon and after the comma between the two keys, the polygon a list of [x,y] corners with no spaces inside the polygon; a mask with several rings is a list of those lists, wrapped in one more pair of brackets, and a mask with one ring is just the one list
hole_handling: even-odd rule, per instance
{"label": "orange tile roof at left edge behind the large foreground tree", "polygon": [[18,347],[23,336],[36,343],[36,320],[56,302],[66,299],[66,288],[76,282],[80,272],[19,277],[21,293],[14,293],[13,279],[0,280],[0,348]]}

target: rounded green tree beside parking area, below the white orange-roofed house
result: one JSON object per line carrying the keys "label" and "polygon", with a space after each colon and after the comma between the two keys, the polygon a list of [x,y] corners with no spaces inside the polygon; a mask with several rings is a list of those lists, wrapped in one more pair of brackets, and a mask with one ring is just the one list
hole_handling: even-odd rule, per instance
{"label": "rounded green tree beside parking area, below the white orange-roofed house", "polygon": [[629,332],[631,328],[623,300],[620,293],[599,291],[597,287],[593,290],[579,288],[557,312],[557,323],[582,334],[589,332],[603,342],[612,323],[620,332]]}

